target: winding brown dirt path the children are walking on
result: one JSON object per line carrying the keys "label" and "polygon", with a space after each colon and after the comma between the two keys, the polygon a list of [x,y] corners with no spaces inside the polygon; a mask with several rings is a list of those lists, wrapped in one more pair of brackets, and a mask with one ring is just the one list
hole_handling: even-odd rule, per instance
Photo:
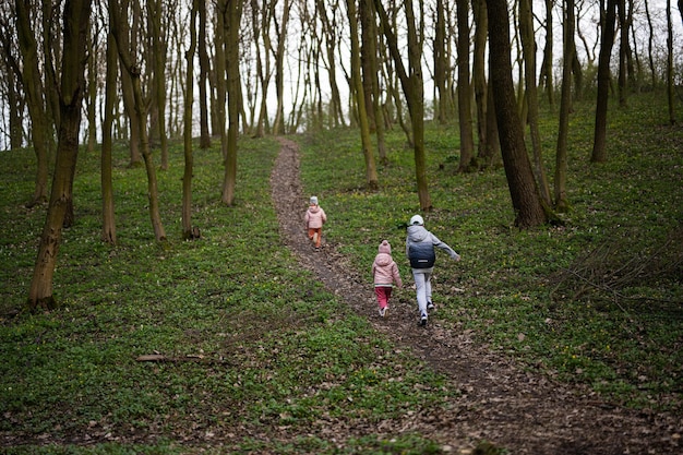
{"label": "winding brown dirt path the children are walking on", "polygon": [[525,372],[438,321],[419,327],[408,304],[394,304],[387,320],[375,316],[371,287],[334,246],[309,254],[311,246],[300,219],[301,201],[308,196],[299,181],[298,146],[287,139],[279,141],[271,184],[286,244],[329,290],[368,314],[378,332],[447,374],[462,392],[451,411],[416,410],[402,429],[385,429],[387,433],[421,431],[454,450],[487,440],[513,454],[683,453],[681,417],[625,409],[602,402],[588,388]]}

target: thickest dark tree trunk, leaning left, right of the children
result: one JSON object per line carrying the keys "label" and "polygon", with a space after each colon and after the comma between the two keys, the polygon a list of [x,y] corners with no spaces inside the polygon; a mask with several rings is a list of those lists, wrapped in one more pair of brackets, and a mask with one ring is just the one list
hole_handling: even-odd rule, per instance
{"label": "thickest dark tree trunk, leaning left, right of the children", "polygon": [[547,220],[531,163],[524,143],[512,80],[510,16],[506,0],[487,0],[490,37],[490,77],[507,185],[515,211],[515,225],[530,228]]}

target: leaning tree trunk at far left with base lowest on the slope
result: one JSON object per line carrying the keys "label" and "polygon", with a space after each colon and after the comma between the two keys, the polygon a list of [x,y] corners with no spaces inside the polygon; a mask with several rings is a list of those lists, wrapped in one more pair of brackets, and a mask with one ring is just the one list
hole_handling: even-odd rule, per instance
{"label": "leaning tree trunk at far left with base lowest on the slope", "polygon": [[60,118],[57,161],[50,203],[28,290],[28,307],[52,309],[52,277],[63,218],[68,203],[72,200],[71,189],[79,156],[79,130],[85,84],[87,27],[89,24],[89,0],[67,0],[63,12],[63,52],[60,84]]}

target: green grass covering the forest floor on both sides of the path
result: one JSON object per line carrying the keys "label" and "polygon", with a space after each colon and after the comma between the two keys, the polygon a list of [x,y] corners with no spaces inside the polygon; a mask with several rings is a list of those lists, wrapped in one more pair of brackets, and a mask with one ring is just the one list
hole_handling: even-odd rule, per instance
{"label": "green grass covering the forest floor on both sides of the path", "polygon": [[[439,259],[440,323],[470,330],[477,343],[559,380],[589,384],[609,399],[680,411],[680,267],[678,275],[620,290],[631,299],[590,289],[573,299],[572,280],[551,292],[563,271],[606,241],[616,247],[604,266],[645,258],[683,220],[683,135],[666,125],[666,107],[634,97],[628,110],[613,109],[604,165],[588,163],[590,115],[590,106],[575,106],[573,211],[563,227],[529,231],[512,226],[502,169],[455,173],[457,128],[429,125],[435,208],[426,214],[427,226],[463,256],[459,263]],[[552,169],[556,119],[549,112],[542,130]],[[329,217],[326,240],[369,270],[386,238],[410,280],[403,226],[418,200],[412,152],[399,129],[388,134],[390,164],[379,169],[376,192],[363,184],[357,132],[292,139],[301,144],[305,196],[319,195]],[[440,452],[426,436],[387,440],[372,431],[418,406],[438,409],[458,391],[373,332],[281,244],[268,187],[278,146],[272,139],[240,141],[233,207],[220,203],[217,144],[196,149],[193,225],[202,238],[183,241],[182,149],[175,145],[170,169],[158,175],[169,238],[159,244],[144,169],[127,168],[127,147],[119,144],[116,247],[99,240],[99,157],[82,154],[76,223],[64,231],[55,275],[60,307],[45,313],[22,310],[45,221],[45,207],[24,206],[33,194],[34,156],[2,154],[0,436],[13,441],[8,453],[199,453],[218,442],[241,453]],[[155,352],[178,361],[136,361]],[[338,422],[369,430],[345,441],[314,435]],[[204,444],[183,443],[194,435]]]}

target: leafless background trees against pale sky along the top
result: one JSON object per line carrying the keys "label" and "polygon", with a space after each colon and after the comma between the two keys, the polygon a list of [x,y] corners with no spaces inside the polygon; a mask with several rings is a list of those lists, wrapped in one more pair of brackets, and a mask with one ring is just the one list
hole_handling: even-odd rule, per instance
{"label": "leafless background trees against pale sky along the top", "polygon": [[[59,72],[61,71],[62,23],[64,1],[39,2],[12,0],[0,5],[2,59],[0,59],[0,149],[33,145],[34,115],[29,104],[37,103],[45,111],[48,135],[56,135],[58,101],[56,99]],[[104,118],[107,38],[112,29],[112,5],[120,9],[121,46],[127,46],[135,70],[140,73],[143,95],[148,103],[149,134],[158,136],[163,118],[164,133],[180,137],[183,131],[183,106],[188,95],[187,52],[191,44],[191,25],[196,33],[196,50],[193,52],[193,134],[201,131],[201,110],[206,109],[205,133],[219,135],[225,128],[221,111],[226,111],[227,87],[221,87],[217,74],[226,53],[237,45],[239,49],[239,124],[241,132],[263,134],[296,132],[305,129],[331,128],[355,123],[357,103],[349,94],[355,93],[351,68],[351,40],[349,5],[355,2],[342,0],[264,0],[264,1],[195,1],[197,16],[192,17],[192,4],[178,0],[119,0],[93,2],[88,33],[88,61],[86,64],[87,93],[84,96],[84,116],[81,128],[83,143],[101,141]],[[398,51],[407,62],[409,32],[416,28],[417,46],[422,65],[424,87],[424,116],[438,118],[440,109],[455,109],[455,91],[458,84],[458,36],[469,34],[469,52],[477,51],[477,28],[481,19],[478,9],[484,2],[472,0],[420,0],[412,1],[415,17],[406,14],[403,2],[382,2],[398,41]],[[524,80],[520,27],[526,10],[518,0],[508,1],[513,77]],[[595,88],[600,52],[603,3],[578,0],[532,2],[532,33],[536,46],[536,81],[546,88],[540,100],[552,103],[552,93],[559,92],[563,61],[563,24],[567,4],[574,5],[574,41],[576,46],[575,73],[582,74],[586,93]],[[673,27],[674,83],[681,79],[682,24],[679,4],[670,4],[671,17],[667,15],[666,0],[618,0],[619,14],[614,34],[614,51],[611,74],[616,81],[620,71],[626,71],[630,89],[649,89],[667,81],[668,20]],[[49,9],[46,7],[49,4]],[[624,13],[621,13],[623,7]],[[550,8],[550,12],[548,11]],[[374,39],[376,68],[369,70],[363,59],[363,79],[368,71],[378,77],[380,104],[387,115],[407,116],[400,109],[406,103],[400,89],[395,56],[392,56],[382,24],[378,20],[372,1],[361,0],[356,5],[357,28],[363,49]],[[375,33],[367,35],[364,9],[372,11]],[[464,11],[465,10],[465,11]],[[466,29],[458,25],[458,15],[468,16]],[[239,19],[239,43],[230,41],[225,32],[230,24],[227,17]],[[27,21],[26,34],[20,21]],[[459,28],[458,28],[459,27]],[[621,31],[625,31],[622,34]],[[218,33],[217,33],[218,32]],[[378,33],[379,32],[379,33]],[[549,46],[549,40],[551,46]],[[620,49],[624,53],[620,53]],[[217,51],[217,49],[219,49]],[[462,48],[464,49],[464,48]],[[31,53],[33,52],[33,53]],[[32,63],[31,56],[35,56]],[[364,50],[363,50],[364,55]],[[625,70],[620,70],[620,56],[624,56]],[[484,53],[488,58],[488,51]],[[220,58],[219,58],[220,57]],[[546,59],[549,60],[547,64]],[[29,68],[29,65],[34,65]],[[470,59],[470,65],[475,59]],[[35,70],[34,70],[35,68]],[[235,65],[227,68],[233,72]],[[551,74],[548,74],[548,71]],[[33,72],[37,71],[36,74]],[[411,71],[411,70],[410,70]],[[129,115],[132,105],[125,100],[125,84],[130,79],[122,74],[116,80],[117,101],[113,105],[112,134],[127,139],[131,134]],[[163,73],[163,74],[161,74]],[[476,73],[470,73],[476,79]],[[159,86],[160,85],[160,86]],[[200,89],[201,87],[201,89]],[[578,89],[575,87],[575,89]],[[235,95],[232,95],[235,96]],[[160,99],[161,98],[161,99]],[[450,99],[453,98],[453,99]],[[202,99],[202,103],[200,100]],[[220,107],[223,105],[223,107]],[[455,111],[454,111],[455,112]],[[443,116],[443,111],[441,111]],[[450,118],[457,116],[445,113]]]}

